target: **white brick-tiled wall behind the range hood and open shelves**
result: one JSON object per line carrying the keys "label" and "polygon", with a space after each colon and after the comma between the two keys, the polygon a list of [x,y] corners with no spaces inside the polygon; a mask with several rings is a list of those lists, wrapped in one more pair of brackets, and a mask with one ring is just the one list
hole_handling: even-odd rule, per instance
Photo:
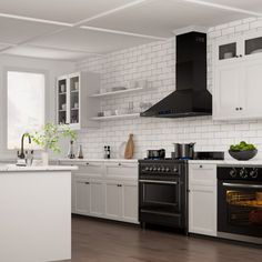
{"label": "white brick-tiled wall behind the range hood and open shelves", "polygon": [[[229,38],[261,30],[262,20],[250,18],[211,28],[208,33],[208,88],[212,92],[211,49],[215,39]],[[77,63],[77,70],[90,70],[101,73],[102,89],[123,85],[127,81],[147,79],[152,83],[148,91],[107,98],[102,110],[127,108],[134,101],[139,108],[141,101],[157,102],[175,89],[175,41],[153,42],[93,58]],[[231,143],[246,140],[262,151],[262,120],[215,122],[211,117],[187,119],[151,119],[104,121],[99,130],[82,131],[88,158],[101,158],[103,145],[112,147],[112,157],[118,157],[118,148],[134,133],[135,158],[145,155],[148,149],[164,148],[168,155],[173,142],[196,142],[196,150],[228,150]],[[261,155],[262,157],[262,155]]]}

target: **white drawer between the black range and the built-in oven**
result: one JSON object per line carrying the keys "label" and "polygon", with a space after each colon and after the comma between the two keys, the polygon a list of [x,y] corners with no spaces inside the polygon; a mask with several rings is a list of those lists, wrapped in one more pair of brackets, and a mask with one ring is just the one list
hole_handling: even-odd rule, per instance
{"label": "white drawer between the black range and the built-in oven", "polygon": [[189,164],[189,185],[216,185],[216,164]]}

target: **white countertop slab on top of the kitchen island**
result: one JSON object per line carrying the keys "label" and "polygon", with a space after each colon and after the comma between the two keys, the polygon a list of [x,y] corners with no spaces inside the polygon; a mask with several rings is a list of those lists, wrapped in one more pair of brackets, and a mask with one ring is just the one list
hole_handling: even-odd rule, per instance
{"label": "white countertop slab on top of the kitchen island", "polygon": [[0,172],[24,172],[24,171],[72,171],[78,167],[72,165],[32,165],[18,167],[16,164],[0,164]]}

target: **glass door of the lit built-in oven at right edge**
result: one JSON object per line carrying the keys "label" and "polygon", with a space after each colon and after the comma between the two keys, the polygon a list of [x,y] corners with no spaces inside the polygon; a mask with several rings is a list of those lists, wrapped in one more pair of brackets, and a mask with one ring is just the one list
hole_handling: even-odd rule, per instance
{"label": "glass door of the lit built-in oven at right edge", "polygon": [[262,182],[219,181],[218,231],[262,236]]}

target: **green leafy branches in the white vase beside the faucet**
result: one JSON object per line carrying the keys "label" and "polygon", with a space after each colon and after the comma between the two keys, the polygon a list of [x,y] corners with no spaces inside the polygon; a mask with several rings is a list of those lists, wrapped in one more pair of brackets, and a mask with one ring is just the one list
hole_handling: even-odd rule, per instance
{"label": "green leafy branches in the white vase beside the faucet", "polygon": [[66,124],[56,125],[53,123],[47,123],[42,130],[30,134],[32,141],[43,150],[52,150],[54,153],[60,153],[59,140],[61,138],[70,138],[71,141],[77,140],[75,131],[71,130]]}

